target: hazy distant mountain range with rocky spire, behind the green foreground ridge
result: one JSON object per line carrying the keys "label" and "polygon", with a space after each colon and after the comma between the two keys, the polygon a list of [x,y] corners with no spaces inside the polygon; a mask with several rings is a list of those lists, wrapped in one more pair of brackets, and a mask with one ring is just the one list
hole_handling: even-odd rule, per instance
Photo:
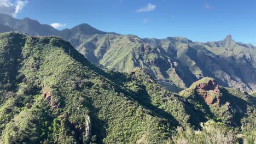
{"label": "hazy distant mountain range with rocky spire, behind the green foreground ridge", "polygon": [[56,35],[68,40],[102,68],[129,72],[141,67],[170,91],[181,91],[205,76],[213,77],[221,86],[246,92],[256,89],[256,48],[236,43],[231,35],[207,43],[182,37],[141,39],[102,32],[88,24],[57,31],[35,20],[17,20],[2,14],[0,24],[30,35]]}

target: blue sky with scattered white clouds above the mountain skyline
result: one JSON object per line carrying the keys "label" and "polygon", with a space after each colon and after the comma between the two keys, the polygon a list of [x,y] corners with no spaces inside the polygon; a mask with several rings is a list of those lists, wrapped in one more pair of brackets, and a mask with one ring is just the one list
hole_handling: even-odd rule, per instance
{"label": "blue sky with scattered white clouds above the mountain skyline", "polygon": [[232,39],[256,45],[255,0],[0,0],[0,13],[57,29],[88,23],[141,38]]}

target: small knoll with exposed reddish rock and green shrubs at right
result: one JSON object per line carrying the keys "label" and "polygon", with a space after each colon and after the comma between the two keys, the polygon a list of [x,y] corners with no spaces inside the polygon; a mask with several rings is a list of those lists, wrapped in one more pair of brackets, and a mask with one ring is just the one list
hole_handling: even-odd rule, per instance
{"label": "small knoll with exposed reddish rock and green shrubs at right", "polygon": [[[187,98],[191,107],[201,105],[198,113],[204,113],[203,115],[208,115],[207,117],[215,117],[231,125],[242,125],[242,118],[245,115],[255,115],[251,111],[255,109],[256,99],[254,97],[238,89],[221,87],[209,77],[194,82],[179,95]],[[193,122],[201,116],[194,117]]]}

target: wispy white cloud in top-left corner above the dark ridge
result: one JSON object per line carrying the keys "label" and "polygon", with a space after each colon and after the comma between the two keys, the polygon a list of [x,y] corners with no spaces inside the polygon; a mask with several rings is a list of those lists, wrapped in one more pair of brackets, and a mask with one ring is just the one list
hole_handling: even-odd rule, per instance
{"label": "wispy white cloud in top-left corner above the dark ridge", "polygon": [[12,3],[10,0],[0,0],[0,13],[16,17],[27,3],[28,1],[26,0],[18,0],[16,3]]}

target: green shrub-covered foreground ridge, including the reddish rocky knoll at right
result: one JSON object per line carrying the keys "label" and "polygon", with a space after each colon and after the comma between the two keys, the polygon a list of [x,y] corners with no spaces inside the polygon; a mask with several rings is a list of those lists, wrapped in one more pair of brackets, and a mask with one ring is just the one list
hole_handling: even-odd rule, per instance
{"label": "green shrub-covered foreground ridge, including the reddish rocky knoll at right", "polygon": [[104,71],[61,38],[15,32],[0,56],[1,143],[167,143],[210,119],[235,142],[256,128],[255,97],[209,77],[171,93],[142,68]]}

